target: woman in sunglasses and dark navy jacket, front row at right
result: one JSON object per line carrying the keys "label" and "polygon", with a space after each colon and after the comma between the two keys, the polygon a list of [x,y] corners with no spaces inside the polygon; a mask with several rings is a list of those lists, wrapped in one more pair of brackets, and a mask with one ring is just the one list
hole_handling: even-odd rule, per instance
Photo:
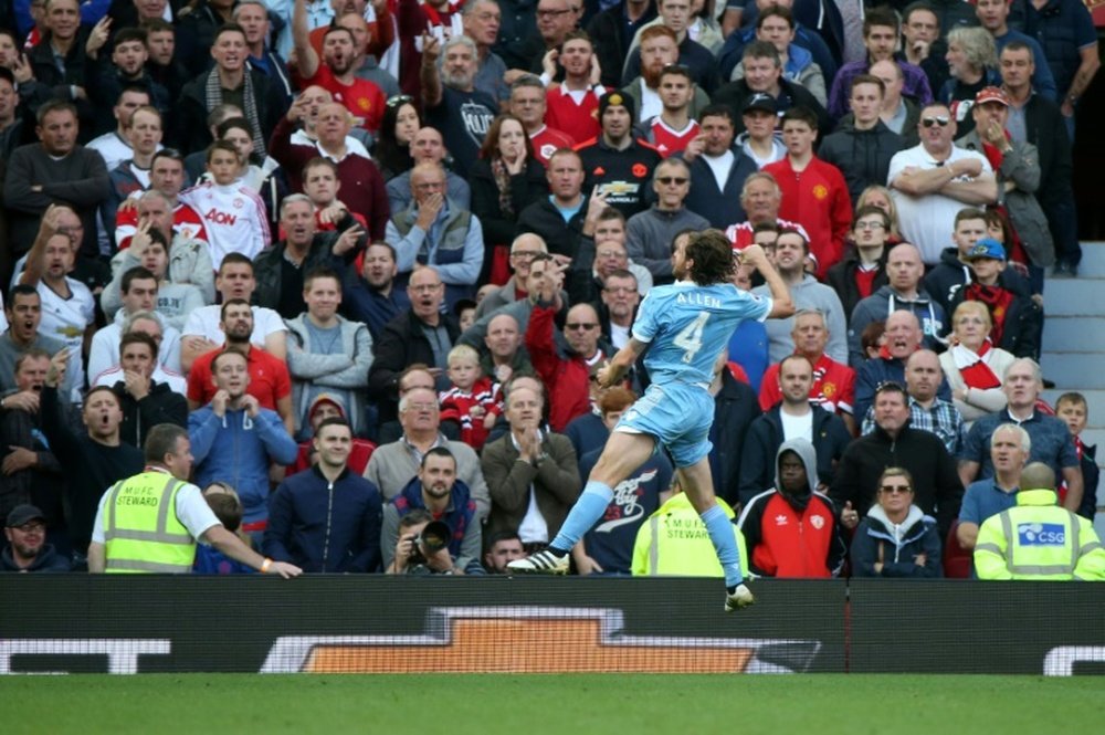
{"label": "woman in sunglasses and dark navy jacket, front row at right", "polygon": [[[878,479],[876,504],[852,538],[854,577],[941,577],[936,518],[913,504],[908,470],[886,468]],[[842,521],[849,525],[846,518]]]}

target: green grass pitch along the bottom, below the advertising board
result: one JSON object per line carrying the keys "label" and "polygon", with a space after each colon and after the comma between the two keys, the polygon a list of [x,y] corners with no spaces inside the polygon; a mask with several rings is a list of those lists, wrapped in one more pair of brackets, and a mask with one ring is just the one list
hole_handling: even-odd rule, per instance
{"label": "green grass pitch along the bottom, below the advertising board", "polygon": [[951,735],[1101,732],[1099,678],[2,676],[6,735]]}

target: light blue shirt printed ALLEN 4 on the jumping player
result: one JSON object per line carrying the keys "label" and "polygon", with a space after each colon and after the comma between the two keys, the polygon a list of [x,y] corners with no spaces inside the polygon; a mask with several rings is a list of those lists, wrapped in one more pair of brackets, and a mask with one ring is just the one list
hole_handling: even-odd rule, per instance
{"label": "light blue shirt printed ALLEN 4 on the jumping player", "polygon": [[649,343],[644,366],[652,381],[708,386],[714,361],[744,319],[762,322],[770,298],[740,291],[732,283],[699,286],[687,281],[655,286],[641,302],[633,338]]}

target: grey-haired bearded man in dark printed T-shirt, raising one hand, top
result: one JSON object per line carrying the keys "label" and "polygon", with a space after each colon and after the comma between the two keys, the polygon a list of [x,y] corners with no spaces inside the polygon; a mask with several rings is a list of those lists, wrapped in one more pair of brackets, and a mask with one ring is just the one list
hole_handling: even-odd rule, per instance
{"label": "grey-haired bearded man in dark printed T-shirt, raising one hand, top", "polygon": [[[484,136],[498,114],[498,102],[475,88],[477,54],[476,44],[466,35],[444,44],[429,35],[423,39],[420,76],[425,123],[441,130],[462,177],[478,157]],[[439,55],[443,56],[440,70]]]}

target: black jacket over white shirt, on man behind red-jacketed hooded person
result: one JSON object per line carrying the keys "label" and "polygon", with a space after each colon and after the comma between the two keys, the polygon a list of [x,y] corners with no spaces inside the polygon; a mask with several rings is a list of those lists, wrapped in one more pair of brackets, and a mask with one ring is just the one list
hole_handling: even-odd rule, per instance
{"label": "black jacket over white shirt, on man behind red-jacketed hooded person", "polygon": [[[818,485],[832,483],[844,450],[852,435],[848,432],[844,421],[835,413],[830,413],[820,406],[813,409],[813,451],[818,456]],[[753,421],[745,438],[740,459],[740,494],[741,505],[767,490],[775,487],[776,454],[785,440],[782,433],[781,405],[776,405],[758,419]]]}

